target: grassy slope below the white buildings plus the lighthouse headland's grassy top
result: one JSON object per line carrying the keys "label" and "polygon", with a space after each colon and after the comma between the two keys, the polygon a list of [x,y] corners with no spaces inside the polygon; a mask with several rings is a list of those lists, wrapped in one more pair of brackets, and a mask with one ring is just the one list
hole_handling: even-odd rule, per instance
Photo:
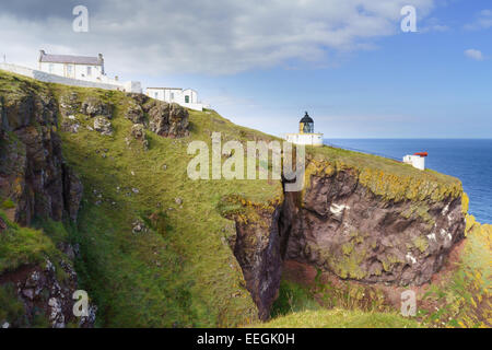
{"label": "grassy slope below the white buildings plus the lighthouse headland's grassy top", "polygon": [[[213,131],[222,132],[223,140],[274,138],[235,126],[214,112],[190,112],[189,138],[172,140],[147,132],[150,150],[144,152],[137,141],[130,148],[126,145],[131,122],[124,118],[128,104],[125,94],[33,83],[13,77],[0,73],[0,89],[12,96],[15,89],[48,86],[57,97],[73,91],[81,101],[86,95],[97,95],[116,107],[113,137],[89,131],[85,126],[92,126],[92,120],[81,115],[75,116],[83,125],[79,133],[60,132],[63,154],[84,184],[84,200],[72,240],[81,245],[83,260],[78,261],[77,268],[83,287],[99,307],[98,325],[208,327],[255,322],[255,305],[245,289],[241,267],[225,243],[234,234],[234,224],[218,208],[227,195],[238,194],[257,203],[278,200],[282,196],[280,183],[192,182],[186,174],[192,159],[187,154],[187,144],[191,140],[210,144]],[[377,156],[330,148],[309,152],[336,166],[359,170],[367,184],[376,184],[376,192],[384,189],[377,186],[380,170],[383,177],[390,176],[397,184],[398,178],[407,180],[405,186],[391,188],[400,190],[396,194],[400,197],[411,192],[408,184],[421,184],[422,179],[431,189],[454,192],[460,188],[459,180],[452,177],[430,171],[420,173]],[[133,194],[132,188],[138,188],[139,194]],[[176,198],[181,198],[183,205],[177,205]],[[96,205],[98,200],[101,205]],[[151,224],[148,218],[152,213],[164,219]],[[137,219],[147,221],[152,230],[133,234],[132,222]]]}

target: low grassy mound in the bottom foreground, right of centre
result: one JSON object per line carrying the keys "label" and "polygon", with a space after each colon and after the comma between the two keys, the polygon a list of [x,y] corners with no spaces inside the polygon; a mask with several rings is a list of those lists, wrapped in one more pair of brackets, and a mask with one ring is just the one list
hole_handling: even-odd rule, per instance
{"label": "low grassy mound in the bottom foreground, right of centre", "polygon": [[256,328],[419,328],[420,324],[390,313],[366,313],[341,308],[304,311],[256,324]]}

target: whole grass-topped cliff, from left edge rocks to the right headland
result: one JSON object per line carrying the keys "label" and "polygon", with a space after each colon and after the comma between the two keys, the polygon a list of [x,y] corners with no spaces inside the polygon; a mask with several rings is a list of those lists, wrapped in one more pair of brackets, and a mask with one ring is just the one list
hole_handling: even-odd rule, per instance
{"label": "whole grass-topped cliff, from left edge rocks to the right headland", "polygon": [[321,148],[308,150],[300,192],[273,179],[191,180],[191,141],[278,139],[213,110],[5,73],[0,96],[0,261],[23,234],[46,241],[0,270],[0,285],[23,285],[10,305],[26,303],[21,271],[40,273],[49,258],[75,262],[63,294],[85,289],[98,326],[234,327],[270,317],[288,260],[421,285],[465,235],[461,184],[432,171]]}

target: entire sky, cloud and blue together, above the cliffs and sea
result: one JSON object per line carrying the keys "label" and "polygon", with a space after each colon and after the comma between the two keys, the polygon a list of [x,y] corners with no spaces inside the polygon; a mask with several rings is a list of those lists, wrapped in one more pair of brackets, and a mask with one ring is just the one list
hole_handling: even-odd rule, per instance
{"label": "entire sky, cloud and blue together, above the cliffs and sea", "polygon": [[[89,32],[74,32],[75,5]],[[406,5],[417,32],[403,32]],[[105,57],[109,75],[181,86],[281,136],[492,138],[490,0],[2,1],[0,55]]]}

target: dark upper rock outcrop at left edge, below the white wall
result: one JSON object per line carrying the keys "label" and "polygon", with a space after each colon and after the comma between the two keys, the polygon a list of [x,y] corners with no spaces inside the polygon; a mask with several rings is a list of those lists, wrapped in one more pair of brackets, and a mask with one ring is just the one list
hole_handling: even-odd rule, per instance
{"label": "dark upper rock outcrop at left edge, below the white wall", "polygon": [[0,196],[13,201],[12,219],[27,225],[37,215],[77,219],[82,184],[70,172],[56,132],[58,104],[44,90],[2,96]]}

